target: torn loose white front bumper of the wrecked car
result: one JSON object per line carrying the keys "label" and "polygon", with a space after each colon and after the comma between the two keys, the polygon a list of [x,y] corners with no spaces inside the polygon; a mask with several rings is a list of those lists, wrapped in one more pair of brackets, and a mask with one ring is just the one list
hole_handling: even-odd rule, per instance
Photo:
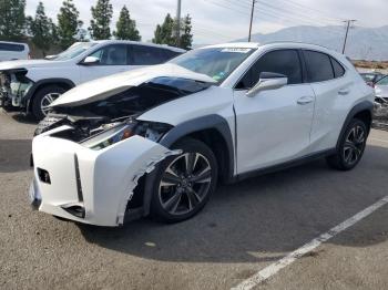
{"label": "torn loose white front bumper of the wrecked car", "polygon": [[101,151],[50,135],[32,142],[34,180],[30,200],[40,211],[98,226],[124,221],[137,180],[165,157],[175,154],[141,136]]}

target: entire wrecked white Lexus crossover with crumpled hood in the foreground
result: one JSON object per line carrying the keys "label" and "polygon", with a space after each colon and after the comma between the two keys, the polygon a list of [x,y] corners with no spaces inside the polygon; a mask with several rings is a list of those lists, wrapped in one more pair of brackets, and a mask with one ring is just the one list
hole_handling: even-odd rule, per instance
{"label": "entire wrecked white Lexus crossover with crumpled hood in the foreground", "polygon": [[193,50],[57,99],[32,142],[30,198],[41,211],[85,224],[149,214],[181,221],[205,206],[218,180],[318,157],[353,169],[372,105],[353,64],[321,46]]}

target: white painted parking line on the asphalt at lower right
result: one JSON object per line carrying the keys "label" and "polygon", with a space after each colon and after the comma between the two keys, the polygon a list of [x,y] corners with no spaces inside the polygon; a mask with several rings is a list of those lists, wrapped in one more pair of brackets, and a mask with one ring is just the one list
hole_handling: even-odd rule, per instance
{"label": "white painted parking line on the asphalt at lower right", "polygon": [[307,242],[306,245],[302,246],[300,248],[296,249],[295,251],[288,253],[286,257],[282,258],[280,260],[269,265],[268,267],[264,268],[263,270],[259,270],[251,278],[244,280],[238,286],[232,288],[233,290],[248,290],[252,289],[259,283],[267,280],[269,277],[276,275],[279,270],[283,268],[292,265],[300,257],[305,256],[307,252],[313,251],[315,248],[319,247],[323,242],[331,239],[334,236],[338,235],[339,232],[346,230],[347,228],[354,226],[361,219],[366,218],[384,205],[388,204],[388,196],[381,198],[376,204],[367,207],[366,209],[361,210],[360,213],[354,215],[353,217],[348,218],[347,220],[343,221],[338,226],[331,228],[325,234],[321,234],[319,237],[313,239],[312,241]]}

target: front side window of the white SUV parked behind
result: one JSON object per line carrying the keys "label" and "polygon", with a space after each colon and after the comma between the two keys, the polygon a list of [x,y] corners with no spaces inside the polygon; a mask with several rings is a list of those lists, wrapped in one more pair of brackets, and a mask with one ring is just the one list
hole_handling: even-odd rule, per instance
{"label": "front side window of the white SUV parked behind", "polygon": [[124,44],[112,44],[102,48],[89,56],[94,56],[100,60],[100,65],[126,65],[127,52]]}

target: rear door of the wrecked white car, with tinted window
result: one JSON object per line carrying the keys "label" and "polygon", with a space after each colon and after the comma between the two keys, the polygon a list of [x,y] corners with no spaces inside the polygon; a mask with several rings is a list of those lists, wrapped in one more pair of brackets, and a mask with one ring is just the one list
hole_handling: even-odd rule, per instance
{"label": "rear door of the wrecked white car, with tinted window", "polygon": [[336,146],[339,131],[351,105],[354,80],[333,56],[304,50],[307,81],[316,95],[312,128],[312,152]]}

